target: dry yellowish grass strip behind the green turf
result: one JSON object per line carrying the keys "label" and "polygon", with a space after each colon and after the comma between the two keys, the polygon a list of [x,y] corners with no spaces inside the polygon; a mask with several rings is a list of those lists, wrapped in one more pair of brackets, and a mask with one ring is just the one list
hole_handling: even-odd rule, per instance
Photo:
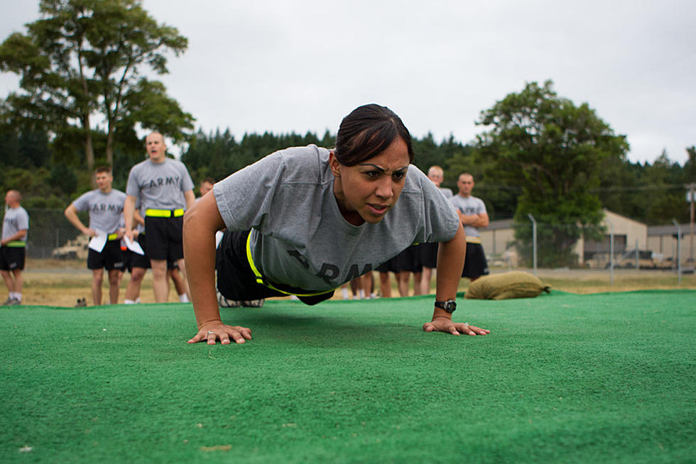
{"label": "dry yellowish grass strip behind the green turf", "polygon": [[[528,269],[522,269],[531,272]],[[505,272],[506,269],[493,269],[492,272]],[[88,304],[92,303],[90,285],[92,274],[85,267],[83,261],[65,260],[28,260],[24,273],[24,302],[26,304],[46,304],[50,306],[73,306],[77,298],[86,298]],[[611,283],[609,271],[598,270],[538,270],[538,276],[553,289],[579,294],[599,292],[624,292],[641,289],[696,289],[696,276],[683,275],[681,284],[673,271],[662,270],[616,270],[614,282]],[[121,296],[119,302],[123,302],[126,284],[129,275],[124,275],[121,282]],[[393,281],[393,279],[392,279]],[[375,275],[375,284],[379,280]],[[431,282],[435,285],[435,278]],[[460,282],[460,291],[465,291],[469,286],[467,279]],[[107,283],[103,285],[104,299],[107,297]],[[398,296],[396,285],[393,282],[392,295]],[[0,294],[3,297],[4,294]],[[170,291],[170,302],[178,302],[175,292]],[[340,299],[337,292],[335,299]],[[143,303],[155,302],[152,291],[152,273],[148,272],[141,291]],[[106,300],[104,300],[106,301]]]}

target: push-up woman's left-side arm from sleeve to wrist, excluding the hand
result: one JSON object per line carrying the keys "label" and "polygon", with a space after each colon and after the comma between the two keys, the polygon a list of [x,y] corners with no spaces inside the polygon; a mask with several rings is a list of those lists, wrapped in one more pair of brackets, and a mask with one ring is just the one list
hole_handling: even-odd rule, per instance
{"label": "push-up woman's left-side arm from sleeve to wrist, excluding the hand", "polygon": [[215,232],[217,228],[195,206],[184,216],[186,275],[198,328],[221,321],[215,294]]}

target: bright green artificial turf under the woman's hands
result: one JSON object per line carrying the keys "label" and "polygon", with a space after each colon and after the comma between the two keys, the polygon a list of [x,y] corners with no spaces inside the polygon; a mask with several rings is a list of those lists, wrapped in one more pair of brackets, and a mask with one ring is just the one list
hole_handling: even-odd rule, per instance
{"label": "bright green artificial turf under the woman's hands", "polygon": [[[696,292],[0,309],[0,462],[695,462]],[[31,449],[30,449],[31,448]]]}

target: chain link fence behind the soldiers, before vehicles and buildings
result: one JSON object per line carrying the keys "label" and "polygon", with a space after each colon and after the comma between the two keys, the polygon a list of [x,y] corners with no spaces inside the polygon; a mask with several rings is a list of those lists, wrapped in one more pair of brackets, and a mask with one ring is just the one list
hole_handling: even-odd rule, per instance
{"label": "chain link fence behind the soldiers, before vehicles and buildings", "polygon": [[[88,240],[67,221],[63,209],[26,208],[29,214],[27,256],[35,259],[84,260]],[[4,212],[3,212],[4,215]],[[89,214],[78,214],[89,223]],[[480,229],[482,244],[493,267],[583,267],[589,269],[663,269],[693,272],[694,236],[689,224],[646,226],[623,216],[607,213],[605,233],[598,240],[580,239],[565,252],[555,248],[554,234],[568,232],[567,224],[511,219],[491,221]],[[524,243],[515,236],[523,228]],[[678,240],[678,231],[680,233]],[[536,241],[534,241],[536,238]],[[565,254],[564,254],[565,253]],[[680,257],[680,260],[678,259]],[[551,263],[551,264],[550,264]]]}

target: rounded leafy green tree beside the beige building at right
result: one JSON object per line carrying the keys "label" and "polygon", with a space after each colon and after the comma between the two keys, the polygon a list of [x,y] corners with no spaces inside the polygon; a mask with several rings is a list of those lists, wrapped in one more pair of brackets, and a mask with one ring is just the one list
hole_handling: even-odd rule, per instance
{"label": "rounded leafy green tree beside the beige building at right", "polygon": [[540,223],[540,265],[574,265],[572,246],[580,235],[602,232],[602,204],[590,189],[599,183],[603,160],[625,155],[626,138],[587,104],[558,96],[551,81],[507,95],[482,111],[477,124],[491,128],[477,137],[482,159],[499,182],[521,187],[515,219],[523,251],[531,246],[532,214]]}

